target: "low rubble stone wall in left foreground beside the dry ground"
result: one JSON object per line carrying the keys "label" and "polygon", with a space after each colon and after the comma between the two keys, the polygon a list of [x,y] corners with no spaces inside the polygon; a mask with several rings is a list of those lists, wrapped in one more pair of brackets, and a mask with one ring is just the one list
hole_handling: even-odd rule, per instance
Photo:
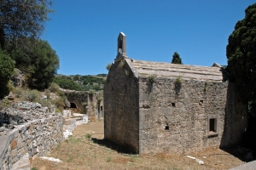
{"label": "low rubble stone wall in left foreground beside the dry ground", "polygon": [[49,116],[17,126],[9,135],[0,136],[0,169],[11,169],[27,152],[44,156],[63,141],[62,116]]}

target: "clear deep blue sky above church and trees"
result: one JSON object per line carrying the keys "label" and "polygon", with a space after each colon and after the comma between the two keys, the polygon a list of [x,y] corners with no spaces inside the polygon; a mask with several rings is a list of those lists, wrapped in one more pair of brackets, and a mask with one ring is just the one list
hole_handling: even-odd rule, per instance
{"label": "clear deep blue sky above church and trees", "polygon": [[117,37],[131,59],[184,65],[227,65],[226,45],[253,0],[53,0],[42,39],[60,58],[59,74],[108,73]]}

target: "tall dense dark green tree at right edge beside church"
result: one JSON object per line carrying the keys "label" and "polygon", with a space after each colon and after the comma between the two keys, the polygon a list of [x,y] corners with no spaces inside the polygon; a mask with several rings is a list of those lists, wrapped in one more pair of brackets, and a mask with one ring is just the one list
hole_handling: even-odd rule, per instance
{"label": "tall dense dark green tree at right edge beside church", "polygon": [[238,20],[230,34],[226,48],[228,71],[244,102],[256,102],[256,3],[245,10],[245,18]]}

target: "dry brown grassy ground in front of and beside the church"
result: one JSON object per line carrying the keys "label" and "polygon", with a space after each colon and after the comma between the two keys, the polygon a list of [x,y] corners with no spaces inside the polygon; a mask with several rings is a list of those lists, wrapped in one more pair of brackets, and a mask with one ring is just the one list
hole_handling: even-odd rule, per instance
{"label": "dry brown grassy ground in front of and beside the church", "polygon": [[196,158],[204,161],[200,165],[187,156],[137,156],[129,155],[117,144],[104,140],[103,121],[80,125],[73,137],[52,150],[49,156],[61,163],[35,159],[32,167],[38,170],[72,169],[229,169],[244,162],[224,150],[206,150]]}

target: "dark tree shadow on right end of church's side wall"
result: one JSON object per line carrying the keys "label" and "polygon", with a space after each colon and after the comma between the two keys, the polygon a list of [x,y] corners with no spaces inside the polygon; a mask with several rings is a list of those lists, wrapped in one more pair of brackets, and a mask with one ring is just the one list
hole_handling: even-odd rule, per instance
{"label": "dark tree shadow on right end of church's side wall", "polygon": [[229,81],[227,90],[224,133],[220,142],[220,148],[242,161],[248,161],[246,156],[242,156],[240,153],[242,150],[235,148],[235,146],[241,144],[247,131],[247,104],[242,103],[241,99],[239,99],[235,82]]}

